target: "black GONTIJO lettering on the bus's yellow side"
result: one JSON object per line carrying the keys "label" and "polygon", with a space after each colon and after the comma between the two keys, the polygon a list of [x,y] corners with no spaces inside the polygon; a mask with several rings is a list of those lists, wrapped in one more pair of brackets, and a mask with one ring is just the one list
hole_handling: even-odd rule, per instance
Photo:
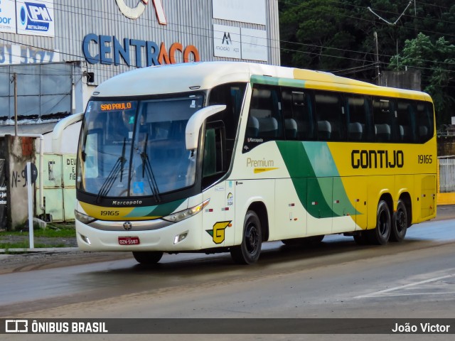
{"label": "black GONTIJO lettering on the bus's yellow side", "polygon": [[402,168],[405,166],[405,153],[354,149],[350,153],[350,163],[353,168]]}

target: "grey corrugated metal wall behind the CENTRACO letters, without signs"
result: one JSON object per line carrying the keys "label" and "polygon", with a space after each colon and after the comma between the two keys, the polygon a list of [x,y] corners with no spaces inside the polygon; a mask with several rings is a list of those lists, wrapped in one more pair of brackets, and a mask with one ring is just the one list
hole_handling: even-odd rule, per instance
{"label": "grey corrugated metal wall behind the CENTRACO letters, without signs", "polygon": [[[128,6],[135,6],[137,0],[125,0]],[[137,20],[126,18],[117,7],[115,0],[55,0],[55,39],[34,36],[16,36],[23,43],[43,45],[59,50],[62,60],[83,60],[88,70],[95,72],[95,84],[132,70],[135,66],[102,65],[85,62],[82,54],[82,40],[89,33],[95,35],[151,40],[158,45],[164,42],[167,50],[172,43],[195,45],[201,60],[230,60],[213,56],[213,24],[267,30],[269,40],[269,60],[267,63],[279,65],[279,28],[277,0],[265,0],[267,6],[267,26],[251,23],[223,21],[212,18],[212,0],[162,0],[168,24],[160,25],[156,19],[152,1],[146,6],[143,15]],[[143,49],[144,50],[144,49]],[[134,59],[135,49],[130,48]],[[145,53],[142,53],[144,61]],[[231,59],[232,60],[232,59]],[[183,60],[177,60],[178,62]],[[259,63],[259,62],[258,62]]]}

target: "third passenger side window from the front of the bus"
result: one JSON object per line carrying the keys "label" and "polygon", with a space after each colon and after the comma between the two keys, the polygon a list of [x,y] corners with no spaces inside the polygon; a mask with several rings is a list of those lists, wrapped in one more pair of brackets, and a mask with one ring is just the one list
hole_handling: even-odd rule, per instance
{"label": "third passenger side window from the front of the bus", "polygon": [[320,141],[343,141],[345,139],[344,108],[339,94],[315,92],[314,107],[318,121]]}

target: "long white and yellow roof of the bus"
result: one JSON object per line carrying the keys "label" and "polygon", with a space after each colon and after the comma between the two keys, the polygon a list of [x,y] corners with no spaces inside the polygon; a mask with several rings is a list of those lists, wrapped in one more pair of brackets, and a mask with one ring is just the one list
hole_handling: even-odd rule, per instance
{"label": "long white and yellow roof of the bus", "polygon": [[432,100],[424,92],[379,87],[328,72],[225,61],[157,65],[124,72],[103,82],[94,94],[97,97],[171,94],[208,90],[228,82],[250,82],[252,78],[264,84]]}

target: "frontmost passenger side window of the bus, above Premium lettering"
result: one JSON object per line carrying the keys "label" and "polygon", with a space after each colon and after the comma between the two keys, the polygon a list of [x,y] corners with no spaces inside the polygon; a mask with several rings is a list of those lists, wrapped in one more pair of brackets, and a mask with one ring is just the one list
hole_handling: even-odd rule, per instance
{"label": "frontmost passenger side window of the bus, above Premium lettering", "polygon": [[[256,131],[267,141],[283,139],[282,104],[279,87],[253,88],[247,134]],[[251,136],[255,137],[255,136]]]}

